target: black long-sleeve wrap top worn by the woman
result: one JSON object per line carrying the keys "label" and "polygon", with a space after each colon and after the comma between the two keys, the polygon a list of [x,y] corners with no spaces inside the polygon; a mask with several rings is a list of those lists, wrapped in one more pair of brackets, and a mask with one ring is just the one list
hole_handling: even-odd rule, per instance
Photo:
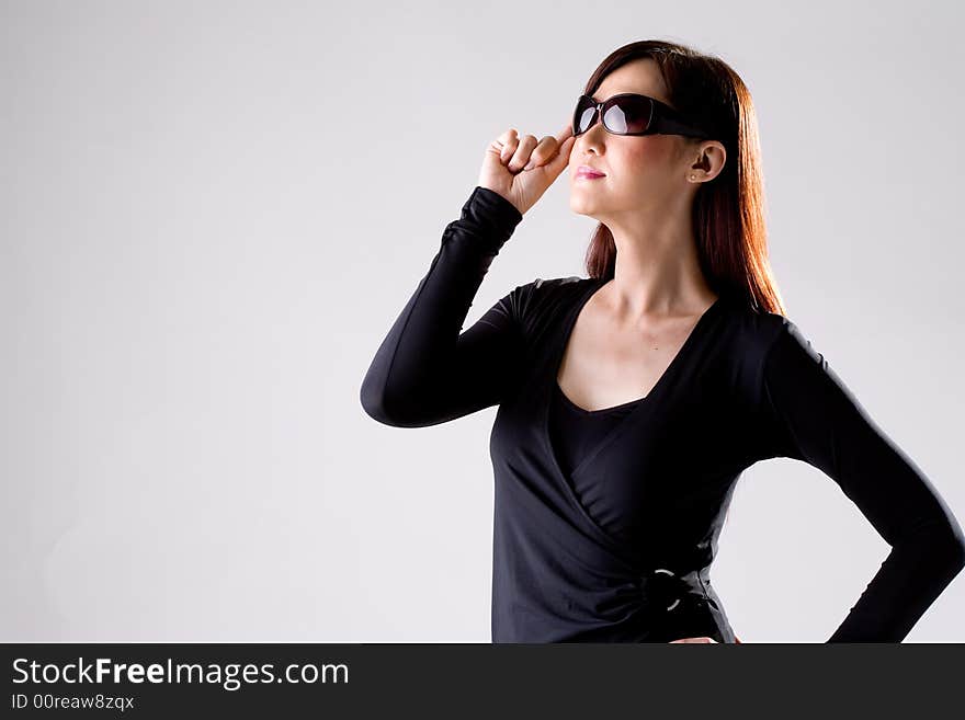
{"label": "black long-sleeve wrap top worn by the woman", "polygon": [[709,579],[717,538],[741,472],[788,457],[831,478],[890,546],[827,642],[900,642],[965,564],[965,534],[797,325],[719,295],[645,398],[558,452],[563,353],[605,281],[535,279],[463,331],[521,220],[473,190],[361,387],[365,412],[399,427],[498,405],[492,641],[733,642]]}

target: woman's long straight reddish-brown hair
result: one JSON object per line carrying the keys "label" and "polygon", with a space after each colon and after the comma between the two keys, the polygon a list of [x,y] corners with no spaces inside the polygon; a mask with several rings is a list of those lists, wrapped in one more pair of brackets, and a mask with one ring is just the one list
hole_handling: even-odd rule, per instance
{"label": "woman's long straight reddish-brown hair", "polygon": [[[707,283],[718,295],[736,297],[754,310],[786,315],[768,260],[761,148],[750,91],[720,58],[648,39],[611,53],[583,92],[592,95],[611,71],[638,58],[657,62],[670,105],[727,152],[724,169],[700,185],[693,203],[697,256]],[[615,262],[616,244],[601,222],[587,249],[587,272],[612,278]]]}

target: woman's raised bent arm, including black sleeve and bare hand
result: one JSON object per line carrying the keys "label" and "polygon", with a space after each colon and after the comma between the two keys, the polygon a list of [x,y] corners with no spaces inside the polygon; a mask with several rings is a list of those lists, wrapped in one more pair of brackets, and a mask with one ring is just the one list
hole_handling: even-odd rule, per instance
{"label": "woman's raised bent arm, including black sleeve and bare hand", "polygon": [[419,427],[497,404],[523,362],[520,306],[534,283],[502,297],[461,334],[500,248],[569,163],[570,122],[536,140],[508,129],[489,144],[479,183],[442,235],[429,272],[365,375],[362,407],[387,425]]}

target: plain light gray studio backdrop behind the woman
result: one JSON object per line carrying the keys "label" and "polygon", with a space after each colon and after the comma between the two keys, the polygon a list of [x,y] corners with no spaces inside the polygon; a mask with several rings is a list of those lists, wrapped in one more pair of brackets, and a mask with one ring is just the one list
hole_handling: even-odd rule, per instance
{"label": "plain light gray studio backdrop behind the woman", "polygon": [[[750,88],[787,315],[965,519],[957,3],[0,8],[2,640],[487,642],[496,409],[394,428],[359,387],[488,142],[647,37]],[[568,192],[465,327],[584,274]],[[887,550],[775,459],[713,578],[745,641],[821,642]]]}

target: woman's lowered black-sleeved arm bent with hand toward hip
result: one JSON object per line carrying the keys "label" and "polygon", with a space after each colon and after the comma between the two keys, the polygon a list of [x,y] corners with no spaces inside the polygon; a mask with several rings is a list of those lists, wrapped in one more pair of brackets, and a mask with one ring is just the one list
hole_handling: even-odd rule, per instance
{"label": "woman's lowered black-sleeved arm bent with hand toward hip", "polygon": [[786,318],[763,363],[775,456],[832,478],[892,550],[827,642],[900,642],[965,564],[965,535],[921,469]]}

